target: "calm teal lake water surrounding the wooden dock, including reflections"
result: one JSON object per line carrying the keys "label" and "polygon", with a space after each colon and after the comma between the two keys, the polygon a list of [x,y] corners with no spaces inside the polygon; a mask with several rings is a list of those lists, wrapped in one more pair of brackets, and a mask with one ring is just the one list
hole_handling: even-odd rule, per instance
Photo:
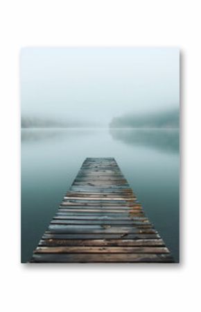
{"label": "calm teal lake water surrounding the wooden dock, including reflections", "polygon": [[87,157],[114,157],[179,262],[177,129],[22,129],[21,262],[30,260]]}

